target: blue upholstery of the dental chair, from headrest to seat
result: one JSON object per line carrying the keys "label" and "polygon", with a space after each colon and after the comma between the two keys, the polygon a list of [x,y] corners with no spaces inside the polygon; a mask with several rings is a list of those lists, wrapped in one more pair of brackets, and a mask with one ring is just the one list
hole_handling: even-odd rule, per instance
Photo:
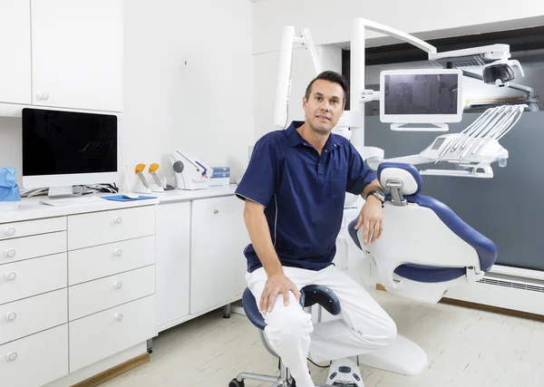
{"label": "blue upholstery of the dental chair, from headrest to seat", "polygon": [[[430,208],[442,220],[442,223],[452,232],[460,237],[463,241],[469,244],[476,250],[481,264],[481,270],[486,272],[491,269],[491,266],[497,259],[497,247],[487,237],[481,235],[480,232],[466,224],[459,218],[451,208],[448,208],[442,202],[430,198],[428,196],[419,195],[423,188],[423,179],[421,174],[413,165],[404,163],[384,162],[378,168],[378,179],[381,179],[384,169],[395,168],[403,169],[409,172],[417,183],[417,189],[411,195],[405,195],[403,198],[408,203],[417,204],[423,208]],[[391,200],[391,196],[387,195],[386,200]],[[357,237],[355,225],[357,218],[349,224],[349,234],[353,238],[355,244],[359,248],[363,248]],[[463,267],[439,267],[439,266],[421,266],[405,264],[395,268],[394,273],[403,278],[412,281],[423,283],[438,283],[447,282],[459,278],[466,274],[466,269]]]}

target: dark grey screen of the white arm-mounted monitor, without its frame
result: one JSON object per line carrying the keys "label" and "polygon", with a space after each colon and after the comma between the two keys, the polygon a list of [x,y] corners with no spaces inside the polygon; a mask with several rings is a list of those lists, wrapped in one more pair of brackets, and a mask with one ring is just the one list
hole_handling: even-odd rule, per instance
{"label": "dark grey screen of the white arm-mounted monitor, without its frame", "polygon": [[385,75],[385,114],[457,114],[457,74]]}

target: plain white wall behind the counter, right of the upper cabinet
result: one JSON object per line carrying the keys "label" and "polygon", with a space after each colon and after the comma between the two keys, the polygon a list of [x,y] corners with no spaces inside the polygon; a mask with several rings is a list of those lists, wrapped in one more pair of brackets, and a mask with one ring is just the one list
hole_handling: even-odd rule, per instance
{"label": "plain white wall behind the counter, right of the upper cabinet", "polygon": [[[253,4],[130,0],[123,18],[120,132],[131,180],[138,163],[173,176],[175,149],[241,175],[253,143]],[[0,118],[0,166],[19,175],[20,136],[20,118]]]}

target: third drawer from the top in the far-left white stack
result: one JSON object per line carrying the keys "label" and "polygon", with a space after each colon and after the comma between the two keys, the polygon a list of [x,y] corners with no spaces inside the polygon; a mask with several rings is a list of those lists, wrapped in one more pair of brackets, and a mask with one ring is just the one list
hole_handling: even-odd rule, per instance
{"label": "third drawer from the top in the far-left white stack", "polygon": [[0,305],[66,287],[67,259],[62,253],[0,266]]}

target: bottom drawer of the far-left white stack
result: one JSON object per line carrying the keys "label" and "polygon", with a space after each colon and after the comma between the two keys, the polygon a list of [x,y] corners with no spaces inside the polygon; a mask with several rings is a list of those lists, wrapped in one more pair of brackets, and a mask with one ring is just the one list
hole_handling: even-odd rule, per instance
{"label": "bottom drawer of the far-left white stack", "polygon": [[67,374],[67,324],[0,345],[2,387],[38,387]]}

